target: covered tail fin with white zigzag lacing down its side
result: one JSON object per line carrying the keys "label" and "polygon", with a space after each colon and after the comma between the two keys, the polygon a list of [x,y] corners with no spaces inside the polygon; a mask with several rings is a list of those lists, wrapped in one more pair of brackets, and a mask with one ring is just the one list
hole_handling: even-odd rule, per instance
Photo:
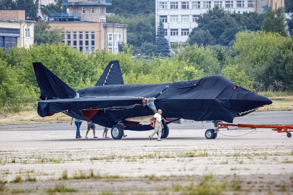
{"label": "covered tail fin with white zigzag lacing down its side", "polygon": [[124,84],[121,67],[118,60],[112,60],[95,86],[119,84]]}

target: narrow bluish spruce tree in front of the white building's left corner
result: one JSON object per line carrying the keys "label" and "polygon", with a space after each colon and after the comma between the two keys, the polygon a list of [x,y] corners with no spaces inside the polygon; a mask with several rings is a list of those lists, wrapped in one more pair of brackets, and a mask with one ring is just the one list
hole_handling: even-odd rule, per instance
{"label": "narrow bluish spruce tree in front of the white building's left corner", "polygon": [[164,24],[160,21],[157,35],[156,35],[157,53],[161,53],[162,56],[167,56],[170,53],[169,43],[165,38]]}

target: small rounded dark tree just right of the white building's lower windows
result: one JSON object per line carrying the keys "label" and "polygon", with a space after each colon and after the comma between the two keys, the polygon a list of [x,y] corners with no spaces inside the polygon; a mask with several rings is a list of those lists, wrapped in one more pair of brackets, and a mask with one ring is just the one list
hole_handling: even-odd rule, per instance
{"label": "small rounded dark tree just right of the white building's lower windows", "polygon": [[203,44],[204,46],[206,46],[213,45],[215,40],[209,30],[193,30],[190,33],[187,42],[190,45],[197,44],[198,46],[200,46],[201,44]]}

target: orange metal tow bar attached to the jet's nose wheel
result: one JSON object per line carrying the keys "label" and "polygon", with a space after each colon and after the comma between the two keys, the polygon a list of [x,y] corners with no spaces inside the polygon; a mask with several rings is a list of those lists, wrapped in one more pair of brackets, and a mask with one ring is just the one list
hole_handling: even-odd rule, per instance
{"label": "orange metal tow bar attached to the jet's nose wheel", "polygon": [[252,124],[226,124],[226,123],[218,123],[215,122],[215,126],[217,127],[215,130],[218,131],[219,129],[229,129],[229,126],[236,126],[242,128],[251,128],[251,129],[258,129],[258,128],[266,128],[272,129],[273,131],[277,131],[278,133],[287,133],[287,137],[291,137],[291,131],[293,131],[293,125],[252,125]]}

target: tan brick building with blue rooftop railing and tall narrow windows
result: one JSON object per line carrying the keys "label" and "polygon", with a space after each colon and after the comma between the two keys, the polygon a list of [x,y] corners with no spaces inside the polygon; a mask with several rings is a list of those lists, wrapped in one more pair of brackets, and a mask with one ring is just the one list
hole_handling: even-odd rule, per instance
{"label": "tan brick building with blue rooftop railing and tall narrow windows", "polygon": [[106,22],[106,5],[110,0],[63,0],[68,8],[66,12],[51,13],[52,29],[63,28],[64,40],[70,47],[85,54],[107,49],[118,53],[118,44],[127,43],[125,24]]}

